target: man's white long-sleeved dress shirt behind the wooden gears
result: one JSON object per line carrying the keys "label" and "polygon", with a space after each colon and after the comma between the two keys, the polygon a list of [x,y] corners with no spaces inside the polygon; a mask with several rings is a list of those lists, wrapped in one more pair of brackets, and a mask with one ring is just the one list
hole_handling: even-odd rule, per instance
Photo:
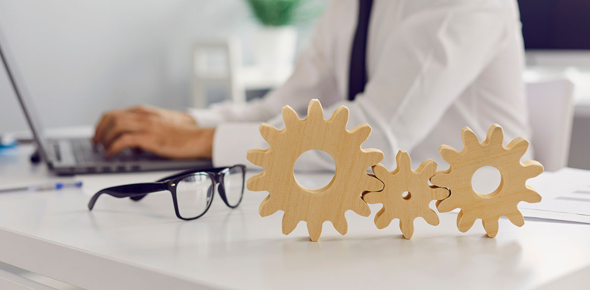
{"label": "man's white long-sleeved dress shirt behind the wooden gears", "polygon": [[[253,165],[251,148],[267,148],[258,126],[284,128],[281,107],[300,118],[310,99],[319,99],[328,119],[336,107],[350,109],[348,129],[368,123],[373,131],[363,148],[378,148],[382,163],[394,170],[395,155],[405,149],[412,163],[434,159],[447,144],[460,150],[461,128],[480,138],[499,123],[505,145],[529,138],[521,73],[524,65],[516,0],[375,0],[369,22],[365,92],[349,101],[350,50],[358,1],[338,0],[319,19],[307,50],[283,86],[245,105],[221,103],[190,110],[201,126],[216,126],[215,166]],[[530,159],[531,149],[523,159]],[[329,156],[317,154],[304,170],[333,170]]]}

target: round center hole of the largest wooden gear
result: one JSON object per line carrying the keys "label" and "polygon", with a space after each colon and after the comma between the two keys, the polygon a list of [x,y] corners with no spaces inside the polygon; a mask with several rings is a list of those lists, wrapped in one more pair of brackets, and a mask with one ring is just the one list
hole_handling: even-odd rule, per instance
{"label": "round center hole of the largest wooden gear", "polygon": [[310,167],[310,161],[317,159],[332,161],[333,168],[336,168],[334,158],[326,151],[314,149],[299,155],[299,158],[295,161],[293,175],[297,183],[307,190],[320,190],[330,184],[334,179],[334,174],[332,176],[328,174],[317,174],[318,172],[326,171],[318,171],[317,168]]}

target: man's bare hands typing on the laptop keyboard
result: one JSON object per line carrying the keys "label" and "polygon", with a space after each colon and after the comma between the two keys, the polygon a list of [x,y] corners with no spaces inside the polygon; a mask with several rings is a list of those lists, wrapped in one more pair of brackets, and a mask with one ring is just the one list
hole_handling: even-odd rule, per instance
{"label": "man's bare hands typing on the laptop keyboard", "polygon": [[214,128],[201,128],[186,113],[137,106],[105,113],[92,138],[107,157],[139,148],[170,158],[211,158]]}

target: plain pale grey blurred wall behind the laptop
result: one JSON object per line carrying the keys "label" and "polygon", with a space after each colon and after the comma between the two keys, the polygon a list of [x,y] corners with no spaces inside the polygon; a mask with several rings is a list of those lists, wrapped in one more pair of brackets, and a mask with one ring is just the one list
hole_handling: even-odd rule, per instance
{"label": "plain pale grey blurred wall behind the laptop", "polygon": [[[312,25],[299,25],[303,39]],[[0,27],[54,127],[137,103],[187,106],[194,41],[237,36],[248,62],[257,24],[244,0],[0,0]],[[26,128],[0,67],[0,132]]]}

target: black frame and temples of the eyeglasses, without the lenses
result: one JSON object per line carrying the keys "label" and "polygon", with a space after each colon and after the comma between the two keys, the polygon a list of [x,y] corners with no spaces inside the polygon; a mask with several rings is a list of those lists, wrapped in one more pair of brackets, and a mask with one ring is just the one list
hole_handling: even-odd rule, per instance
{"label": "black frame and temples of the eyeglasses, without the lenses", "polygon": [[[230,172],[234,168],[241,168],[242,170],[242,192],[240,193],[240,200],[235,206],[232,206],[227,201],[227,196],[225,195],[225,183],[224,177],[225,175]],[[195,220],[199,217],[203,216],[211,207],[213,203],[213,197],[215,196],[215,188],[217,187],[217,191],[221,199],[224,201],[225,205],[230,208],[236,208],[242,202],[242,198],[244,197],[244,187],[245,187],[245,174],[246,174],[246,167],[242,164],[237,164],[232,167],[220,167],[220,168],[212,168],[209,170],[187,170],[183,172],[179,172],[178,174],[174,174],[168,177],[161,178],[160,180],[154,183],[135,183],[135,184],[126,184],[126,185],[117,185],[114,187],[104,188],[99,190],[96,194],[90,198],[88,203],[89,210],[92,210],[94,204],[99,199],[101,194],[109,194],[113,197],[117,198],[125,198],[129,197],[134,201],[139,201],[149,193],[156,193],[158,191],[169,191],[172,194],[172,201],[174,204],[174,211],[176,212],[176,217],[181,220]],[[180,211],[178,210],[178,198],[176,197],[176,185],[178,183],[190,176],[195,175],[208,175],[211,178],[211,186],[209,186],[209,190],[207,192],[207,208],[203,213],[199,214],[196,217],[182,217]]]}

